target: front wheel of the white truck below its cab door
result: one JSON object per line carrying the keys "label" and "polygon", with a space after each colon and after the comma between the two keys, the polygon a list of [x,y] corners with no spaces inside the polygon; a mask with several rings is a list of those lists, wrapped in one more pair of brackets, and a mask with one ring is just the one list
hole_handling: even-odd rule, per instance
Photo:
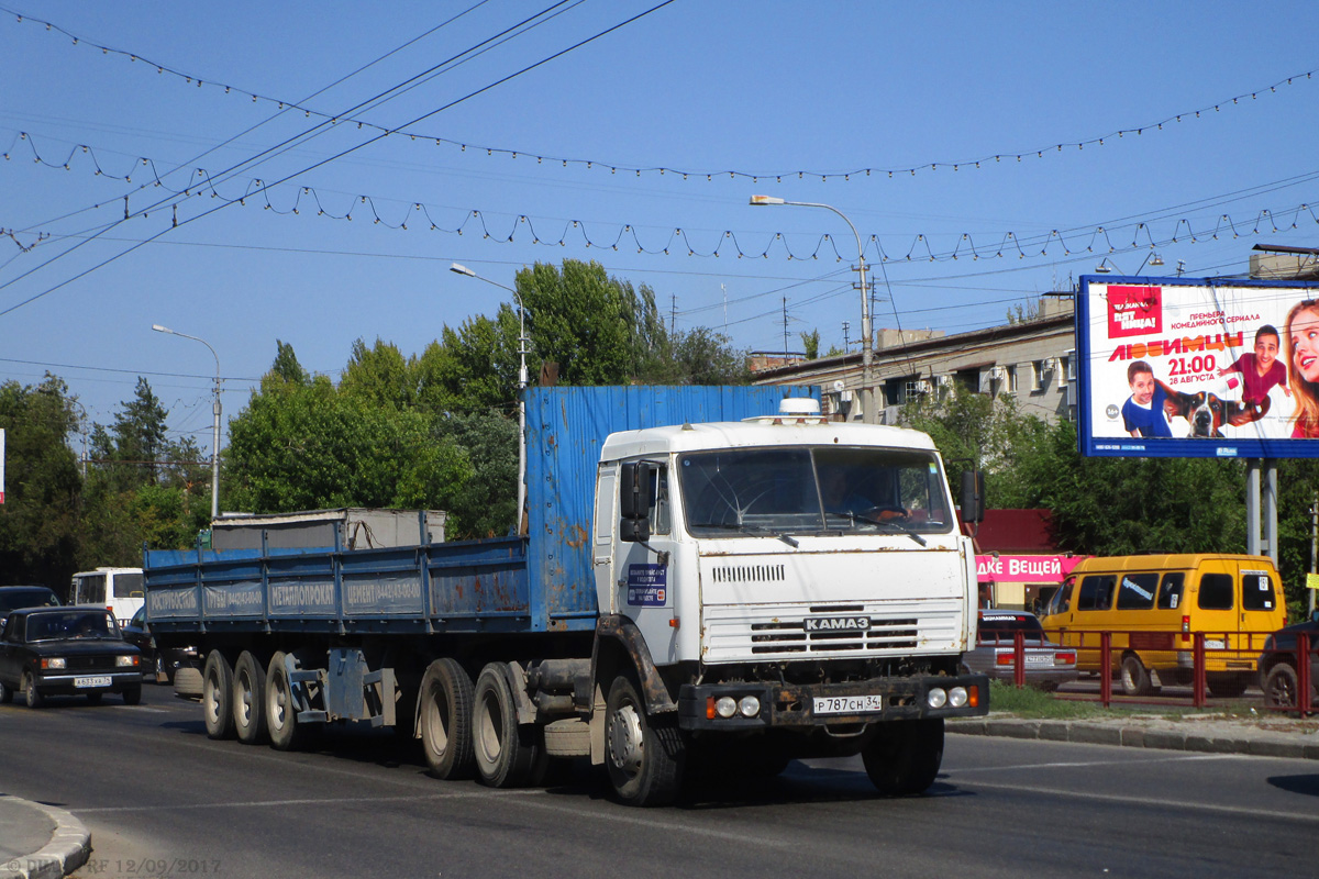
{"label": "front wheel of the white truck below its cab door", "polygon": [[615,677],[604,716],[604,766],[615,797],[625,805],[667,805],[682,791],[686,763],[677,717],[648,717],[632,677]]}

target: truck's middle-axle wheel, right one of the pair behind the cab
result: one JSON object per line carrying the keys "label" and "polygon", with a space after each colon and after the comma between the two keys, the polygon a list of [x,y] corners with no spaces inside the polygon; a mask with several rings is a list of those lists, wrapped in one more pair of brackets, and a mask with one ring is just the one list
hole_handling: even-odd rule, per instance
{"label": "truck's middle-axle wheel, right one of the pair behind the cab", "polygon": [[476,771],[492,788],[530,784],[542,764],[541,737],[532,725],[518,726],[517,704],[504,673],[491,663],[476,677],[472,710],[472,750]]}

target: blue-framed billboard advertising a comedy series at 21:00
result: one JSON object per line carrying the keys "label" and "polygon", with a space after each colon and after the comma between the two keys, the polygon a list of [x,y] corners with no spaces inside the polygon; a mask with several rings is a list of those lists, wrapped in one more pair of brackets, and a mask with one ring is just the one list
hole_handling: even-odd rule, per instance
{"label": "blue-framed billboard advertising a comedy series at 21:00", "polygon": [[1319,457],[1316,299],[1319,282],[1083,275],[1082,455]]}

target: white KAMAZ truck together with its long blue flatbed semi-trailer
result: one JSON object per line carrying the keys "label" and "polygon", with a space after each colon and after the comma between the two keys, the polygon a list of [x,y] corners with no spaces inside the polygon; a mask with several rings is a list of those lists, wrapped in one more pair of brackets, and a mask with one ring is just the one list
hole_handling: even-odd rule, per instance
{"label": "white KAMAZ truck together with its long blue flatbed semi-trailer", "polygon": [[860,752],[881,792],[933,783],[943,718],[988,685],[962,673],[975,553],[929,436],[823,419],[801,387],[524,402],[525,534],[430,543],[421,513],[409,547],[144,553],[208,735],[398,726],[438,778],[496,787],[588,756],[633,805],[703,762]]}

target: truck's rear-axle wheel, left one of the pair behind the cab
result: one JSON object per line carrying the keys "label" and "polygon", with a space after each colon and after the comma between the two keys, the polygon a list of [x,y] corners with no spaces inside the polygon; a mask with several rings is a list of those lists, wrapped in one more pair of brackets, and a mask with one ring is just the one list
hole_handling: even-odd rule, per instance
{"label": "truck's rear-axle wheel, left one of the pair behind the cab", "polygon": [[437,659],[421,679],[418,733],[430,774],[437,779],[470,779],[476,770],[472,742],[472,677],[454,659]]}

